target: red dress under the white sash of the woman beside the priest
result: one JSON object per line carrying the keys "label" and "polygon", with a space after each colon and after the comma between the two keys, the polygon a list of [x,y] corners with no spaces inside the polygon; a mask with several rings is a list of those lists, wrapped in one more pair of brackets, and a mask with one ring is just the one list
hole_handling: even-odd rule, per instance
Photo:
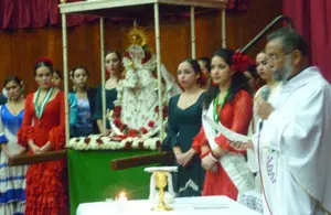
{"label": "red dress under the white sash of the woman beside the priest", "polygon": [[[217,106],[220,112],[220,106]],[[249,122],[253,116],[253,99],[245,90],[239,90],[232,101],[226,101],[218,115],[218,119],[226,128],[242,135],[248,131]],[[216,143],[224,150],[246,153],[233,149],[226,138],[221,135],[215,138]],[[203,127],[199,135],[194,138],[192,148],[200,153],[200,158],[210,153],[210,147],[204,133]],[[203,195],[226,195],[233,200],[237,198],[238,190],[232,182],[221,163],[217,162],[217,172],[206,171],[203,186]]]}

